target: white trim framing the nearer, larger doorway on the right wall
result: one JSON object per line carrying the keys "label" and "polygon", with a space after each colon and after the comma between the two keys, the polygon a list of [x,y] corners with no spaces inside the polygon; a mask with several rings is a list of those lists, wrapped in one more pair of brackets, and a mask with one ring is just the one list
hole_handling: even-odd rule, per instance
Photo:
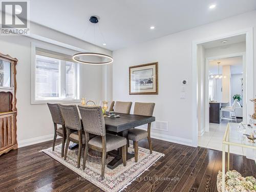
{"label": "white trim framing the nearer, larger doorway on the right wall", "polygon": [[[198,146],[198,66],[197,66],[197,46],[205,42],[223,39],[227,37],[246,35],[246,65],[245,65],[245,91],[246,91],[246,114],[253,112],[253,103],[249,101],[253,98],[253,28],[243,29],[236,32],[230,32],[215,37],[209,37],[192,42],[192,130],[193,146]],[[247,118],[248,121],[248,118]],[[248,122],[247,122],[248,123]]]}

